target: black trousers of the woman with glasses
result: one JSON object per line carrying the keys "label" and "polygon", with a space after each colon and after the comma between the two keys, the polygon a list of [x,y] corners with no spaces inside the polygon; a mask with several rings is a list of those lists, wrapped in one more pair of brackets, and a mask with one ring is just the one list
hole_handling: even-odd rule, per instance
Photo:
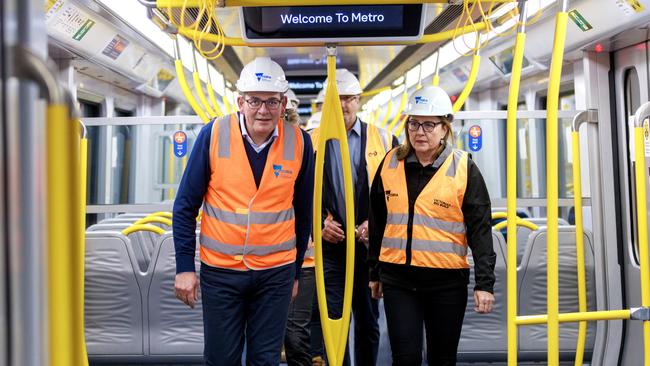
{"label": "black trousers of the woman with glasses", "polygon": [[384,284],[384,306],[394,366],[422,364],[422,325],[429,366],[456,365],[467,287],[413,291]]}

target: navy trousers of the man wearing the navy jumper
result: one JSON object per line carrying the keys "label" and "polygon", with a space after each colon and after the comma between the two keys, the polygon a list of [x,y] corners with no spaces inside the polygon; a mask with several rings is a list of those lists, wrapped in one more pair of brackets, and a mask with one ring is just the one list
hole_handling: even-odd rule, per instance
{"label": "navy trousers of the man wearing the navy jumper", "polygon": [[205,364],[276,366],[291,300],[295,265],[233,271],[201,265]]}

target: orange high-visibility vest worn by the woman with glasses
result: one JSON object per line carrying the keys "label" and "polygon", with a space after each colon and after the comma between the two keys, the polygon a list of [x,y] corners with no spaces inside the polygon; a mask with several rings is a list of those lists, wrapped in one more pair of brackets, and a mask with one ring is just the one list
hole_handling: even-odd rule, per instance
{"label": "orange high-visibility vest worn by the woman with glasses", "polygon": [[[469,268],[461,209],[467,187],[468,154],[447,147],[441,155],[444,163],[415,201],[411,265]],[[388,217],[379,260],[406,264],[409,199],[404,161],[397,159],[397,149],[386,155],[381,179]]]}

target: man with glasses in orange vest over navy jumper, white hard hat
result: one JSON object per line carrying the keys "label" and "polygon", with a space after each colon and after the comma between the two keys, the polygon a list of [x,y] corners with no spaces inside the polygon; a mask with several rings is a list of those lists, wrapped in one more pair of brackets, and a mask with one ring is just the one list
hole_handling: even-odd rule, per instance
{"label": "man with glasses in orange vest over navy jumper, white hard hat", "polygon": [[239,112],[199,133],[174,202],[176,297],[198,300],[196,217],[206,365],[274,365],[311,232],[309,135],[283,121],[288,83],[268,57],[244,66]]}

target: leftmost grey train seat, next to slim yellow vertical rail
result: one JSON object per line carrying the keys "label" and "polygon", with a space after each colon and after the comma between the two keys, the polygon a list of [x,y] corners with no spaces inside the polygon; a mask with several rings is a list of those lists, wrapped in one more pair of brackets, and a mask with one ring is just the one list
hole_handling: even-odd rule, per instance
{"label": "leftmost grey train seat, next to slim yellow vertical rail", "polygon": [[142,355],[146,282],[129,239],[117,232],[86,233],[85,334],[91,355]]}

